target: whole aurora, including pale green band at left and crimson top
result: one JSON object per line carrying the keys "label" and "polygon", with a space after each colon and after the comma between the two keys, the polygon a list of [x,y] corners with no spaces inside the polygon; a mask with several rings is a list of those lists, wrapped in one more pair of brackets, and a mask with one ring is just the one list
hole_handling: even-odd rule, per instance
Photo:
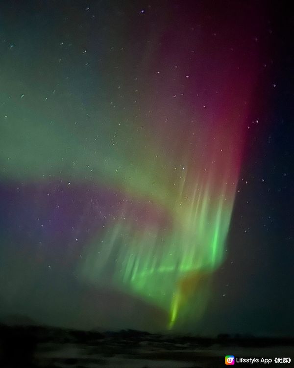
{"label": "whole aurora, including pale green band at left and crimson top", "polygon": [[[193,12],[184,2],[169,12],[157,2],[144,12],[123,3],[109,6],[105,19],[101,13],[95,31],[83,27],[77,43],[62,23],[62,42],[35,66],[28,57],[26,79],[14,67],[17,48],[5,54],[0,179],[52,188],[45,193],[52,213],[41,230],[35,216],[36,233],[67,217],[70,205],[78,209],[80,224],[69,222],[72,238],[62,237],[58,250],[68,250],[87,287],[143,299],[166,312],[166,327],[181,328],[203,315],[225,256],[254,88],[257,12],[248,16],[239,2],[221,15],[206,1]],[[75,29],[74,17],[63,18]],[[36,86],[31,80],[50,53],[54,67],[42,71],[41,93],[39,78]],[[40,195],[37,204],[51,208],[46,201]]]}

